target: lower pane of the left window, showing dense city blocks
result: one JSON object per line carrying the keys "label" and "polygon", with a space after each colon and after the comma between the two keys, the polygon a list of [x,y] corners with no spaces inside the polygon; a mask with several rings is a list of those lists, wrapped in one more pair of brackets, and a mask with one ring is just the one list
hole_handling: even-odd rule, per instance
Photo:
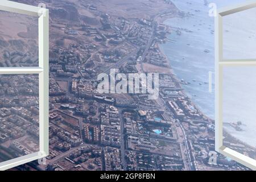
{"label": "lower pane of the left window, showing dense city blocks", "polygon": [[0,161],[39,151],[38,75],[0,75]]}

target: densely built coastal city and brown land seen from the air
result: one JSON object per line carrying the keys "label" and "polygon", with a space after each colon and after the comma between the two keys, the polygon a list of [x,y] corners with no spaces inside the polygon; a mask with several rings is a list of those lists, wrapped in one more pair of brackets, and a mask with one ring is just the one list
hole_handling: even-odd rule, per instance
{"label": "densely built coastal city and brown land seen from the air", "polygon": [[[168,35],[188,31],[164,20],[191,14],[171,0],[15,2],[44,3],[50,13],[49,155],[11,171],[249,170],[213,152],[214,121],[184,92],[182,85],[189,82],[177,78],[160,49],[173,41]],[[17,27],[0,30],[0,67],[38,66],[36,20],[12,19],[0,11],[1,27]],[[98,93],[98,75],[112,69],[125,75],[158,73],[158,98]],[[0,86],[3,162],[39,151],[38,75],[1,75]],[[230,125],[239,129],[241,123]],[[230,148],[255,156],[254,147],[228,133],[225,137]]]}

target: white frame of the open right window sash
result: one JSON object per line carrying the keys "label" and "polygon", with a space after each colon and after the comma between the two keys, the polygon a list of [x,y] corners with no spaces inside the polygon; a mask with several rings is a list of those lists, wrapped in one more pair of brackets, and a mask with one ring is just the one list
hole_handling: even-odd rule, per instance
{"label": "white frame of the open right window sash", "polygon": [[[215,18],[215,150],[236,160],[253,170],[256,170],[256,160],[249,156],[243,155],[223,145],[223,121],[222,121],[222,80],[223,67],[234,67],[251,65],[256,66],[255,59],[233,59],[228,60],[223,57],[223,17],[226,15],[238,13],[244,10],[256,7],[256,1],[240,3],[239,5],[220,9],[217,11]],[[256,137],[256,136],[255,136]]]}

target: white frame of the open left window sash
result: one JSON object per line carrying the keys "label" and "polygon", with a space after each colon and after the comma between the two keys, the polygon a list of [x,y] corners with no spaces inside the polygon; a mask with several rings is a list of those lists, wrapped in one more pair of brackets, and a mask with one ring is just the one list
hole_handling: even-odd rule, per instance
{"label": "white frame of the open left window sash", "polygon": [[3,171],[33,160],[44,158],[49,154],[49,10],[6,0],[0,1],[0,10],[30,16],[39,16],[39,66],[0,68],[0,75],[39,75],[39,151],[1,162],[0,171]]}

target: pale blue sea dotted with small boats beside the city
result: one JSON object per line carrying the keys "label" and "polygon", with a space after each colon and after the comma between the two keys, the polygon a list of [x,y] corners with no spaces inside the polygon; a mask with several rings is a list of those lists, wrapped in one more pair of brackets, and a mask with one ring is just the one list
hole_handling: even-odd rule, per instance
{"label": "pale blue sea dotted with small boats beside the city", "polygon": [[[245,0],[213,0],[207,3],[204,0],[173,0],[172,2],[174,2],[179,10],[184,11],[184,13],[189,13],[190,15],[185,18],[168,19],[164,22],[165,24],[174,27],[172,28],[174,31],[172,31],[172,34],[168,36],[168,39],[171,39],[171,42],[166,42],[160,47],[170,59],[171,67],[174,70],[175,75],[180,80],[183,79],[184,81],[191,83],[188,85],[183,85],[185,92],[189,97],[191,97],[193,102],[205,115],[214,119],[214,90],[212,93],[209,93],[208,91],[209,71],[214,73],[214,18],[209,16],[210,8],[208,7],[208,4],[216,3],[217,9],[219,9],[220,7],[234,5],[234,3],[245,2]],[[226,42],[228,42],[225,43],[224,40],[225,58],[253,58],[256,51],[252,50],[255,50],[255,46],[240,44],[244,49],[241,47],[232,47],[232,43],[237,43],[244,40],[241,37],[246,36],[248,32],[246,32],[246,30],[242,30],[241,32],[234,31],[234,34],[240,33],[242,36],[236,37],[233,34],[231,36],[230,32],[233,31],[231,27],[233,27],[236,22],[232,22],[232,19],[229,17],[225,18],[224,20],[226,20],[226,24],[224,26],[224,39],[226,39]],[[241,19],[236,17],[235,20],[241,23],[240,26],[246,26],[246,23],[247,26],[251,26],[251,19]],[[176,28],[181,31],[181,34],[177,34],[175,32],[175,30],[177,30]],[[253,29],[253,31],[255,31],[255,29]],[[256,39],[254,40],[254,32],[250,32],[250,34],[250,36],[246,37],[248,39],[246,42],[249,41],[255,44]],[[232,50],[235,51],[230,51],[229,48],[232,48]],[[242,55],[241,52],[245,52],[244,50],[249,53],[247,53],[247,55]],[[256,56],[254,56],[254,58],[255,57]],[[233,80],[236,80],[236,77],[233,77]],[[230,94],[228,96],[233,97]],[[229,107],[230,104],[232,104],[232,102],[226,105],[227,112],[229,114],[232,112],[239,113],[238,107],[236,110],[236,108],[231,106]],[[246,103],[242,103],[241,105],[244,105],[244,108],[254,106],[248,106]],[[256,108],[256,106],[254,107]],[[256,147],[256,122],[254,120],[252,121],[247,117],[233,117],[224,119],[224,122],[230,123],[242,121],[243,131],[236,131],[233,127],[229,126],[225,126],[225,129],[228,130],[228,132],[234,137]],[[235,121],[229,121],[229,119],[233,119]],[[253,130],[250,128],[253,128]],[[253,138],[255,139],[251,138],[253,135]]]}

